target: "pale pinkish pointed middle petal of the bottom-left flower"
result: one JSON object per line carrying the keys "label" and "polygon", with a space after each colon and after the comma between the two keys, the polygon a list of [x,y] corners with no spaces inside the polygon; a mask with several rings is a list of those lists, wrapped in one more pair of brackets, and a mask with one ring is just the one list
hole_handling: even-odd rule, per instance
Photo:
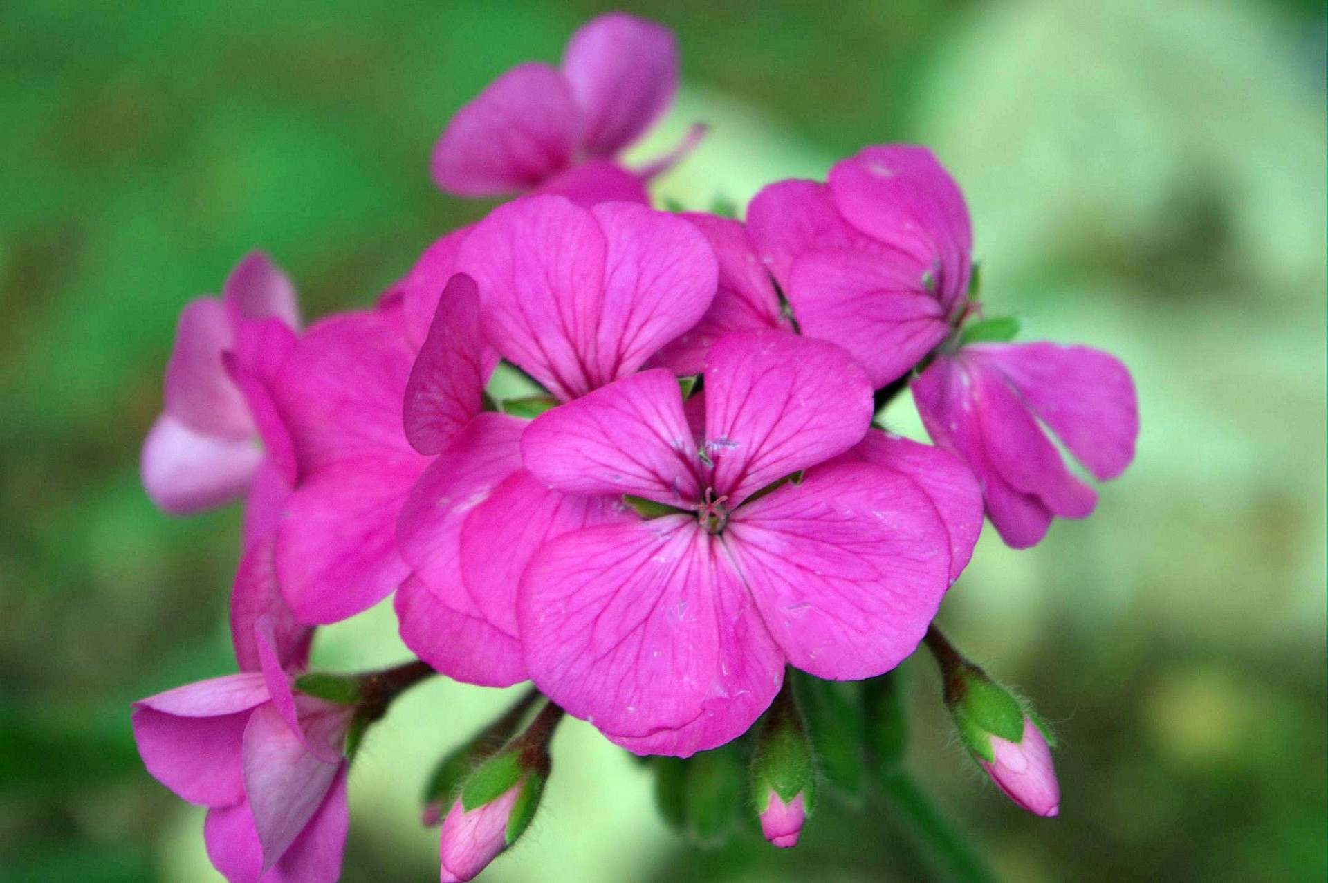
{"label": "pale pinkish pointed middle petal of the bottom-left flower", "polygon": [[271,705],[254,710],[244,729],[244,795],[272,867],[317,813],[344,763],[325,763],[291,732]]}

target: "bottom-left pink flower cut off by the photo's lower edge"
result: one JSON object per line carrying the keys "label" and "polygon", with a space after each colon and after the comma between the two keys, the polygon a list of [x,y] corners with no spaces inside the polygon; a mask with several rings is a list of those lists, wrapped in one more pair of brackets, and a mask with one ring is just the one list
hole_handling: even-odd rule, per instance
{"label": "bottom-left pink flower cut off by the photo's lower edge", "polygon": [[348,810],[341,754],[353,708],[291,690],[283,647],[260,620],[258,671],[134,704],[138,752],[162,785],[208,807],[212,864],[232,883],[332,882]]}

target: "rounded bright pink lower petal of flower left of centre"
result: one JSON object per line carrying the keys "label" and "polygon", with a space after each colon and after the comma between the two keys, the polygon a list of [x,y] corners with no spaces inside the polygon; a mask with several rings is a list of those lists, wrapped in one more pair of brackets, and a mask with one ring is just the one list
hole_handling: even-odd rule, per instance
{"label": "rounded bright pink lower petal of flower left of centre", "polygon": [[355,616],[405,579],[397,513],[425,462],[414,453],[347,459],[291,494],[276,532],[276,575],[296,619],[319,625]]}

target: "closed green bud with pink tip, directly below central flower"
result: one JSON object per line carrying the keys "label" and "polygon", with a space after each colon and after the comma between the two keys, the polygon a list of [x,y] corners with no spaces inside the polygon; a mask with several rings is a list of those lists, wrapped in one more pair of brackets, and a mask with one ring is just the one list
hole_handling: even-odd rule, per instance
{"label": "closed green bud with pink tip, directly below central flower", "polygon": [[791,685],[785,685],[761,721],[752,787],[765,839],[780,848],[794,846],[815,798],[815,761]]}

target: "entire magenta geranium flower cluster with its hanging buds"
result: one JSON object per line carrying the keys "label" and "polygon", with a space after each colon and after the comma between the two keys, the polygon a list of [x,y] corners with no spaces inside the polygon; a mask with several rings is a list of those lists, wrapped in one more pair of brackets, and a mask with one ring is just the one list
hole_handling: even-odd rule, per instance
{"label": "entire magenta geranium flower cluster with its hanging buds", "polygon": [[[745,223],[653,208],[701,129],[645,169],[616,157],[677,68],[668,31],[608,15],[560,68],[494,81],[433,178],[522,195],[368,309],[301,328],[262,254],[186,307],[143,482],[173,514],[247,497],[240,673],[141,701],[134,728],[149,771],[210,807],[228,879],[336,879],[355,746],[432,672],[537,690],[428,790],[444,880],[529,823],[563,713],[641,756],[748,744],[754,811],[793,846],[818,734],[786,673],[875,679],[924,639],[964,745],[1057,811],[1045,728],[932,619],[984,515],[1028,547],[1093,510],[1061,447],[1097,479],[1129,465],[1129,373],[981,319],[963,195],[923,147],[773,183]],[[906,388],[934,445],[876,422]],[[305,672],[316,627],[393,594],[421,661]]]}

